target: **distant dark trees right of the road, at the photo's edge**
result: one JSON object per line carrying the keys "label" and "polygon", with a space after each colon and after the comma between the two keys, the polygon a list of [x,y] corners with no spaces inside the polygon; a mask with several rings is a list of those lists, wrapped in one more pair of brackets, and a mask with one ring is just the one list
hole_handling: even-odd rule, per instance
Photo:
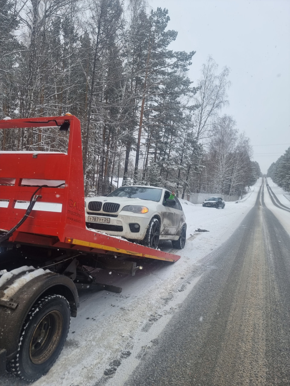
{"label": "distant dark trees right of the road, at the photo's edge", "polygon": [[267,177],[271,177],[273,182],[285,191],[290,191],[290,147],[271,164]]}

